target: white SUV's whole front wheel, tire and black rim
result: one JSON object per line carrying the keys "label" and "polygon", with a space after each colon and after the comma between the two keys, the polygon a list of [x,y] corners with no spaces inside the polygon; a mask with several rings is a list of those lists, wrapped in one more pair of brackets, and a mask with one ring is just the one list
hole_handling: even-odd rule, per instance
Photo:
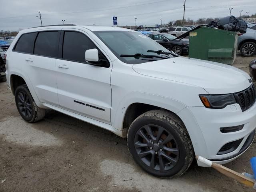
{"label": "white SUV's whole front wheel, tire and black rim", "polygon": [[183,123],[163,110],[148,111],[136,118],[128,130],[127,145],[135,162],[158,177],[181,176],[194,160]]}

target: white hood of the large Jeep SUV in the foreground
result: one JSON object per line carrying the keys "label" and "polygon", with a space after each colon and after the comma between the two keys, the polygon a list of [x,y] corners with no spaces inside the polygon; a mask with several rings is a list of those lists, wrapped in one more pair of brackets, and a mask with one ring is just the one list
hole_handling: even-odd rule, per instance
{"label": "white hood of the large Jeep SUV in the foreground", "polygon": [[194,58],[176,57],[135,64],[135,72],[204,88],[209,94],[227,94],[248,88],[250,76],[238,68]]}

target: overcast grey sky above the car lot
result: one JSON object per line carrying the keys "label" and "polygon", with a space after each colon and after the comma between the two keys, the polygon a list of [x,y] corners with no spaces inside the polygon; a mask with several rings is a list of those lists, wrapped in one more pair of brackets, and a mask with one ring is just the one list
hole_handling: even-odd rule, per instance
{"label": "overcast grey sky above the car lot", "polygon": [[[66,24],[112,26],[155,25],[183,18],[184,0],[6,0],[1,5],[0,30],[18,30],[43,25]],[[256,0],[186,0],[185,18],[240,16],[256,13]]]}

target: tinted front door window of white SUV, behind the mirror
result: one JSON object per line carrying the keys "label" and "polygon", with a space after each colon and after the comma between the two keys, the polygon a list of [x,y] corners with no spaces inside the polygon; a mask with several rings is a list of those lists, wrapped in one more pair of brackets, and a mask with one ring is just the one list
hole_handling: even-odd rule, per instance
{"label": "tinted front door window of white SUV, behind the mirror", "polygon": [[66,31],[63,41],[63,59],[85,62],[85,51],[97,48],[84,34]]}

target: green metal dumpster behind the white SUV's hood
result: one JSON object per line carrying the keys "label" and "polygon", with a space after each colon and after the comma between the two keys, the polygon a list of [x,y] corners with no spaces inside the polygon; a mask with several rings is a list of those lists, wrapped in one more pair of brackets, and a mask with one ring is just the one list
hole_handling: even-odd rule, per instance
{"label": "green metal dumpster behind the white SUV's hood", "polygon": [[238,33],[199,26],[189,32],[189,57],[232,65]]}

